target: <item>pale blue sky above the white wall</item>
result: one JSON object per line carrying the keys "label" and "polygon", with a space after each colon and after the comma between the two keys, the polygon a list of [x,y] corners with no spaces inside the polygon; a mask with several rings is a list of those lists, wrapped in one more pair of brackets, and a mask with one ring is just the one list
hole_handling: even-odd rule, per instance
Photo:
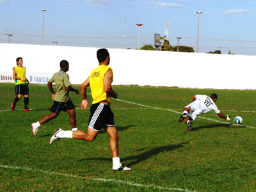
{"label": "pale blue sky above the white wall", "polygon": [[[194,47],[200,14],[198,52],[221,49],[236,54],[256,53],[256,0],[0,0],[0,43],[138,48],[154,44],[154,33]],[[125,39],[124,39],[125,34]]]}

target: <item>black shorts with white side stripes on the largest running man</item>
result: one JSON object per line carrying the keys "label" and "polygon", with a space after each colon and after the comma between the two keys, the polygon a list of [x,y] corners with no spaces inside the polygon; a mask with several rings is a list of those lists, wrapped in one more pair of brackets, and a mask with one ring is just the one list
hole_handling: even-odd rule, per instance
{"label": "black shorts with white side stripes on the largest running man", "polygon": [[114,113],[111,111],[110,106],[102,103],[92,104],[90,111],[89,128],[100,131],[102,127],[115,126]]}

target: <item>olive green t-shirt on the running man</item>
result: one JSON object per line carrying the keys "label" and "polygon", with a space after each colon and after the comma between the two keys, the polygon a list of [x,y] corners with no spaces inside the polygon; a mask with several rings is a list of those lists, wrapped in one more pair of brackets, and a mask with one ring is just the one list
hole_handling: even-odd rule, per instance
{"label": "olive green t-shirt on the running man", "polygon": [[57,87],[54,100],[58,102],[68,102],[70,100],[69,92],[66,89],[66,86],[71,85],[68,74],[60,70],[51,77],[49,82],[55,83]]}

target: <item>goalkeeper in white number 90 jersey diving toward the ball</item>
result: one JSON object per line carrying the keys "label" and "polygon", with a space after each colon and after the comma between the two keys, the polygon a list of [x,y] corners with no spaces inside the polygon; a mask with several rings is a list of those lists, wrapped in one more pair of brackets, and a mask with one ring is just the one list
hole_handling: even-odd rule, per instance
{"label": "goalkeeper in white number 90 jersey diving toward the ball", "polygon": [[193,102],[191,102],[191,104],[188,104],[188,106],[183,109],[183,115],[180,116],[179,122],[182,122],[182,120],[184,120],[184,122],[188,124],[188,131],[191,131],[193,127],[192,120],[195,120],[197,116],[207,113],[211,110],[214,110],[215,113],[220,116],[220,118],[224,118],[225,120],[229,121],[230,116],[223,115],[217,108],[215,104],[217,98],[218,96],[215,93],[212,93],[211,97],[208,97],[207,95],[194,95]]}

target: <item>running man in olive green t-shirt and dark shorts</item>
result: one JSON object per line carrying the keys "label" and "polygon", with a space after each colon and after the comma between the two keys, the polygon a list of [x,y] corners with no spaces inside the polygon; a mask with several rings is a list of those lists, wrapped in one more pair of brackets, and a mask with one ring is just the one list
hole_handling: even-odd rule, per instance
{"label": "running man in olive green t-shirt and dark shorts", "polygon": [[[56,72],[49,82],[47,83],[50,92],[52,93],[52,100],[54,100],[50,111],[52,112],[49,115],[46,115],[42,120],[31,124],[32,132],[36,135],[38,132],[39,127],[49,122],[50,120],[56,118],[60,115],[61,111],[67,111],[68,115],[70,116],[70,123],[72,125],[72,130],[77,130],[76,127],[76,109],[69,97],[69,91],[76,92],[76,95],[79,95],[79,90],[72,88],[71,83],[69,81],[69,76],[66,73],[69,68],[69,63],[66,60],[60,61],[60,71]],[[55,94],[52,83],[56,84],[57,92]]]}

